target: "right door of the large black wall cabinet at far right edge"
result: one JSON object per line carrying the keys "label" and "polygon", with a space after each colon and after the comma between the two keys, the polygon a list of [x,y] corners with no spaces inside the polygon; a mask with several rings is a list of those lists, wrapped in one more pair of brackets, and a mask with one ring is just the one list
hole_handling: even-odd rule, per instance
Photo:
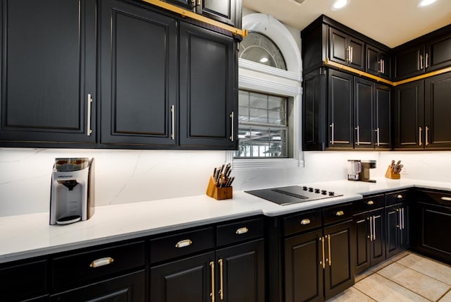
{"label": "right door of the large black wall cabinet at far right edge", "polygon": [[451,147],[451,73],[424,80],[424,125],[426,148]]}

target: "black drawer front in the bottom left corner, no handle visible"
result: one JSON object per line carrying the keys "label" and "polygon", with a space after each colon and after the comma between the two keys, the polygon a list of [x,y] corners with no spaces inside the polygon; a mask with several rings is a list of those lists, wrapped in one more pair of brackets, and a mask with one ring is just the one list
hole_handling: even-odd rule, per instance
{"label": "black drawer front in the bottom left corner, no handle visible", "polygon": [[18,301],[47,291],[46,260],[0,269],[0,300]]}

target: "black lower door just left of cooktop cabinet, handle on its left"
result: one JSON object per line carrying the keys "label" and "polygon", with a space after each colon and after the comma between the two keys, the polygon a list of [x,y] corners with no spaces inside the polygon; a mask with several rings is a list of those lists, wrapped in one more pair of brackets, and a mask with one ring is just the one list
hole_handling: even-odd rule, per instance
{"label": "black lower door just left of cooktop cabinet, handle on its left", "polygon": [[263,239],[216,251],[216,299],[264,302]]}

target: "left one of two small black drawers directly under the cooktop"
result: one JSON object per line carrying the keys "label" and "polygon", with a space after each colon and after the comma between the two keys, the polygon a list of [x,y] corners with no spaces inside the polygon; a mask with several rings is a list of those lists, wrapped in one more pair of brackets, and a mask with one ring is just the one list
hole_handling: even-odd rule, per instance
{"label": "left one of two small black drawers directly under the cooktop", "polygon": [[321,210],[301,212],[283,218],[285,236],[321,227]]}

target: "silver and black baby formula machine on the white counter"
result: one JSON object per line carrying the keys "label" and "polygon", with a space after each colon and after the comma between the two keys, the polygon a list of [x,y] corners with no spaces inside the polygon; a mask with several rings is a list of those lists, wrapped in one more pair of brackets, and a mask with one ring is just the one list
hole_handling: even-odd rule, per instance
{"label": "silver and black baby formula machine on the white counter", "polygon": [[94,215],[94,158],[56,158],[51,173],[50,224]]}

